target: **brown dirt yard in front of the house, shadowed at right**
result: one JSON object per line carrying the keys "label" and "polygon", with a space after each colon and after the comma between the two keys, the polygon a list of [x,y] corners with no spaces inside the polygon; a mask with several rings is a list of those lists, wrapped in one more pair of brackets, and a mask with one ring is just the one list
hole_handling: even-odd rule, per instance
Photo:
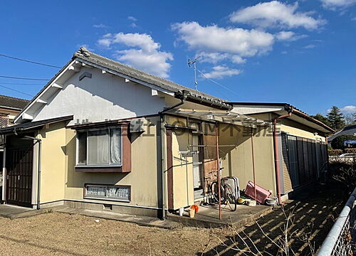
{"label": "brown dirt yard in front of the house, shadowed at right", "polygon": [[[274,210],[258,223],[278,243],[286,223],[285,215],[293,211],[291,247],[296,255],[312,255],[310,248],[320,247],[342,206],[342,198],[335,191],[319,191],[287,206],[284,212],[281,208]],[[278,255],[277,246],[266,235],[256,223],[243,230],[164,230],[115,220],[95,222],[95,218],[80,215],[46,213],[15,220],[0,218],[0,255],[242,255],[239,249],[246,250],[246,245],[241,239],[247,245],[252,240],[261,252]]]}

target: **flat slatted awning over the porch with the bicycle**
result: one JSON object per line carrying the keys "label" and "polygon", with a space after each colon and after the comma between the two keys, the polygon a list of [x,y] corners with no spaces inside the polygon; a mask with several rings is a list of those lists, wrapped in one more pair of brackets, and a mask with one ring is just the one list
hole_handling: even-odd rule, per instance
{"label": "flat slatted awning over the porch with the bicycle", "polygon": [[272,123],[266,122],[254,117],[248,117],[244,114],[237,114],[228,110],[194,110],[194,109],[173,109],[167,114],[178,114],[184,117],[203,119],[205,121],[215,121],[226,124],[235,124],[243,127],[256,128],[258,126],[269,126]]}

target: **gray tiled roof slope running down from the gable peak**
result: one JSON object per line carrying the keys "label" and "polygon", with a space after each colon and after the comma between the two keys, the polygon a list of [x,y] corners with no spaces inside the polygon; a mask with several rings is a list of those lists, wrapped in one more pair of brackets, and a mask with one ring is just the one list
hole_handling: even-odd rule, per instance
{"label": "gray tiled roof slope running down from the gable peak", "polygon": [[225,102],[225,100],[222,100],[218,97],[208,95],[204,92],[198,92],[197,90],[194,90],[192,88],[185,87],[183,85],[178,85],[175,82],[172,82],[172,81],[169,81],[169,80],[166,80],[163,78],[159,78],[155,75],[145,73],[141,70],[138,70],[138,69],[132,68],[128,65],[119,63],[115,60],[111,60],[109,58],[105,58],[105,57],[98,55],[96,53],[92,53],[85,47],[81,47],[78,51],[76,51],[74,53],[74,57],[80,58],[82,60],[86,60],[86,61],[88,61],[90,63],[94,63],[96,65],[103,66],[103,67],[113,70],[117,73],[121,73],[123,75],[130,76],[131,78],[135,78],[137,80],[141,80],[143,82],[147,82],[152,85],[156,85],[157,87],[161,87],[164,90],[169,90],[172,92],[179,92],[182,90],[187,90],[188,92],[190,92],[191,95],[196,96],[196,97],[206,97],[208,99],[219,100],[221,102]]}

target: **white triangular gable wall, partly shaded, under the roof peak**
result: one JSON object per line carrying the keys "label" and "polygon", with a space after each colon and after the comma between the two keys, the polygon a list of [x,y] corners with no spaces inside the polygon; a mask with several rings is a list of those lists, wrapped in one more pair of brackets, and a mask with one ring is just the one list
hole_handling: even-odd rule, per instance
{"label": "white triangular gable wall, partly shaded, under the roof peak", "polygon": [[[84,72],[92,78],[79,80]],[[81,68],[62,86],[56,95],[45,99],[47,104],[33,114],[33,121],[73,114],[70,124],[102,122],[157,114],[164,108],[164,99],[152,96],[150,87],[125,82],[97,68]]]}

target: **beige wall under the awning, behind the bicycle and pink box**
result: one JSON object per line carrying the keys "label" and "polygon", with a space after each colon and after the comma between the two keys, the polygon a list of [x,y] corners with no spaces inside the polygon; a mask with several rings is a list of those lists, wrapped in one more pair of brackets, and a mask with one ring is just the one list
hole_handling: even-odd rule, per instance
{"label": "beige wall under the awning, behind the bicycle and pink box", "polygon": [[[253,129],[253,133],[256,184],[271,189],[275,194],[273,137],[268,136],[268,127]],[[222,176],[236,176],[239,178],[240,189],[246,188],[248,181],[253,181],[250,129],[236,125],[226,127],[226,124],[220,124],[219,145],[221,165],[224,167]]]}

